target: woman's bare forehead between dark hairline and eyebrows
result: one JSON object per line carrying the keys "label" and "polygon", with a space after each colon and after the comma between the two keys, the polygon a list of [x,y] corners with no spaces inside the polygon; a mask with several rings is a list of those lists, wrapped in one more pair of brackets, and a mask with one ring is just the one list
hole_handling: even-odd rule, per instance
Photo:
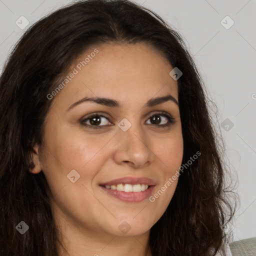
{"label": "woman's bare forehead between dark hairline and eyebrows", "polygon": [[72,103],[82,96],[98,96],[143,103],[169,93],[177,100],[177,81],[169,75],[172,68],[164,54],[148,43],[91,46],[70,65],[66,75],[75,75],[56,99]]}

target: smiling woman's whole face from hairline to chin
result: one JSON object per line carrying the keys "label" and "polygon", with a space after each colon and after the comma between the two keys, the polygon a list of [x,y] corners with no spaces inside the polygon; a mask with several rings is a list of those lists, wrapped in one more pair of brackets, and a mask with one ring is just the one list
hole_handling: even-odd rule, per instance
{"label": "smiling woman's whole face from hairline to chin", "polygon": [[[57,93],[48,95],[33,172],[45,174],[61,221],[91,234],[129,236],[161,217],[183,154],[172,69],[148,44],[104,43],[79,56]],[[156,100],[167,95],[174,99]],[[85,97],[107,100],[80,101]]]}

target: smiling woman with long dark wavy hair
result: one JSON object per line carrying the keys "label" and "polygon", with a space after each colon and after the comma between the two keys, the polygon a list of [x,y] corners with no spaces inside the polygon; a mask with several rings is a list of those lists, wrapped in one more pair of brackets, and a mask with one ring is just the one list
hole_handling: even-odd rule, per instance
{"label": "smiling woman with long dark wavy hair", "polygon": [[0,78],[0,254],[224,255],[224,164],[182,38],[129,1],[33,24]]}

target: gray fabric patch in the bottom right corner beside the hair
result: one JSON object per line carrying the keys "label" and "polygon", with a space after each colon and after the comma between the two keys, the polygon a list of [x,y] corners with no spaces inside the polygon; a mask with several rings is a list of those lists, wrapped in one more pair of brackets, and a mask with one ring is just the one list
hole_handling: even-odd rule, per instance
{"label": "gray fabric patch in the bottom right corner beside the hair", "polygon": [[256,256],[256,237],[231,242],[229,248],[232,256]]}

